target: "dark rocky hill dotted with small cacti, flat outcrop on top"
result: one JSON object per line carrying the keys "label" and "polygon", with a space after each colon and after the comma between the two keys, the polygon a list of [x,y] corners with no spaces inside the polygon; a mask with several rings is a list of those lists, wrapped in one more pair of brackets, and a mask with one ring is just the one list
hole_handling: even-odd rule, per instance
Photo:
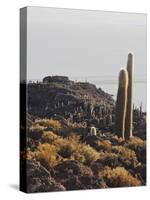
{"label": "dark rocky hill dotted with small cacti, flat outcrop on top", "polygon": [[88,82],[75,82],[63,76],[45,77],[41,83],[29,83],[27,91],[28,113],[36,117],[92,121],[102,126],[114,114],[112,96]]}

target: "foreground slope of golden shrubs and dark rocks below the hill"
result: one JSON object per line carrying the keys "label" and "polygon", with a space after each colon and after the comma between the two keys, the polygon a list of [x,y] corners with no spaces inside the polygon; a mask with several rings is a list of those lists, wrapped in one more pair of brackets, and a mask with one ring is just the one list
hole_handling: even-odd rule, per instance
{"label": "foreground slope of golden shrubs and dark rocks below the hill", "polygon": [[[64,128],[71,134],[62,136]],[[146,184],[145,140],[137,136],[123,140],[100,131],[83,137],[76,131],[73,124],[64,127],[58,120],[32,122],[28,147],[21,153],[27,163],[28,192]]]}

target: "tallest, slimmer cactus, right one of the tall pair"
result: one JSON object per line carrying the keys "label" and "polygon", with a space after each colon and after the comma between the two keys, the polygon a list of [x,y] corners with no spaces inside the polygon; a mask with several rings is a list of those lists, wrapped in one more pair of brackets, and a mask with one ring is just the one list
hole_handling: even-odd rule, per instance
{"label": "tallest, slimmer cactus, right one of the tall pair", "polygon": [[127,93],[127,110],[126,110],[126,119],[125,119],[125,135],[126,138],[132,137],[132,126],[133,126],[133,55],[128,54],[127,61],[127,72],[128,72],[128,93]]}

